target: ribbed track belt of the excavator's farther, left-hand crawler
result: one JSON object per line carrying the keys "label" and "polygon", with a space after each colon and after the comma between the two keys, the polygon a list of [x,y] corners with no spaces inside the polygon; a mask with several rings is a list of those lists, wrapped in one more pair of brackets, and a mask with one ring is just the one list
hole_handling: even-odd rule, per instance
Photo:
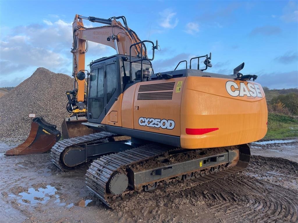
{"label": "ribbed track belt of the excavator's farther, left-hand crawler", "polygon": [[55,145],[53,145],[50,151],[51,160],[57,167],[64,170],[65,168],[61,163],[60,155],[66,148],[70,146],[85,145],[111,136],[116,136],[116,134],[110,132],[97,132],[85,136],[77,136],[69,139],[60,140],[56,142]]}

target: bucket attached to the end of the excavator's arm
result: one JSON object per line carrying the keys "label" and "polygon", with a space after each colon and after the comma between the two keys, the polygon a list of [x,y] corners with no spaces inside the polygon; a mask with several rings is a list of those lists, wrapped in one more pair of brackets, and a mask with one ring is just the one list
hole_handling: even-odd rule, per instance
{"label": "bucket attached to the end of the excavator's arm", "polygon": [[88,128],[86,125],[82,125],[83,122],[87,122],[85,116],[73,116],[65,118],[61,125],[63,139],[84,136],[93,133],[92,129]]}

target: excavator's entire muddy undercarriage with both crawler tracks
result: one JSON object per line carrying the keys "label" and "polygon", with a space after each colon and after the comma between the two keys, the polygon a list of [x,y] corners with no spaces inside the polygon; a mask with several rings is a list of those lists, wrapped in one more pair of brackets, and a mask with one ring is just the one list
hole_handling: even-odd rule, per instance
{"label": "excavator's entire muddy undercarriage with both crawler tracks", "polygon": [[[249,146],[182,149],[140,140],[115,141],[116,134],[94,133],[64,139],[51,150],[60,169],[92,163],[86,173],[88,189],[103,203],[113,203],[143,191],[185,180],[207,183],[245,169]],[[138,142],[138,144],[134,143]]]}

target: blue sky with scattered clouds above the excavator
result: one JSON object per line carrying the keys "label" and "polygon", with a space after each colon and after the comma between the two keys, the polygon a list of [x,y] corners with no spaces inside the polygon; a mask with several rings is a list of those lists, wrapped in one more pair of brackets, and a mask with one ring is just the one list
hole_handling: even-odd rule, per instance
{"label": "blue sky with scattered clouds above the excavator", "polygon": [[[17,86],[38,67],[72,74],[75,14],[124,15],[141,40],[159,41],[154,72],[212,52],[208,72],[254,74],[270,89],[298,87],[298,1],[0,1],[0,87]],[[101,26],[84,20],[85,27]],[[92,60],[116,51],[89,42]],[[189,65],[189,63],[188,63]],[[203,63],[200,64],[204,66]],[[183,66],[179,68],[183,69]],[[194,67],[196,65],[194,64]]]}

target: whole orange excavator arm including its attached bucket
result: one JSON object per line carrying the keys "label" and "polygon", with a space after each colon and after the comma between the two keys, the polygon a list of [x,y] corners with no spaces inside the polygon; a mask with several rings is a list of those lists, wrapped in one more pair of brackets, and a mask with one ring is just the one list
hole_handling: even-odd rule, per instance
{"label": "whole orange excavator arm including its attached bucket", "polygon": [[[105,24],[105,26],[86,28],[83,24],[83,19],[91,22]],[[122,23],[116,19],[122,19]],[[110,46],[116,50],[117,54],[129,56],[130,46],[141,42],[137,34],[131,30],[124,16],[112,17],[109,19],[84,17],[75,15],[72,23],[73,29],[73,73],[75,78],[74,89],[66,92],[69,103],[66,106],[70,117],[66,118],[62,123],[62,134],[64,138],[71,138],[80,135],[90,134],[93,131],[86,126],[81,125],[86,122],[86,92],[85,92],[85,54],[88,51],[88,42],[100,43]],[[143,44],[134,45],[131,48],[131,56],[147,55],[146,47]],[[83,76],[80,76],[83,75]]]}

